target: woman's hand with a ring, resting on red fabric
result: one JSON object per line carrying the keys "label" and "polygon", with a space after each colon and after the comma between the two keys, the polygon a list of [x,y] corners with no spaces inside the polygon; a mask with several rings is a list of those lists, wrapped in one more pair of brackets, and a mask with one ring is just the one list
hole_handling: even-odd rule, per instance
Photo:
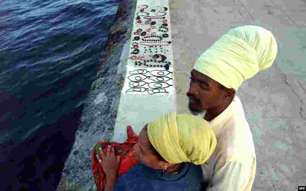
{"label": "woman's hand with a ring, resting on red fabric", "polygon": [[102,149],[101,148],[99,149],[100,149],[100,156],[96,155],[96,157],[99,163],[101,164],[106,176],[117,177],[117,173],[120,166],[120,156],[118,156],[116,159],[114,148],[110,150],[110,146],[107,148],[106,156],[104,155]]}

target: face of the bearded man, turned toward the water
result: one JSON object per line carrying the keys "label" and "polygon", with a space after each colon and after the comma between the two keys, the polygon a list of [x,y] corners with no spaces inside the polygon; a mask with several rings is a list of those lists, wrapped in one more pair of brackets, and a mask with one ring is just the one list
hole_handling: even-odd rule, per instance
{"label": "face of the bearded man, turned toward the water", "polygon": [[214,108],[224,102],[219,83],[193,69],[190,77],[188,108],[193,115]]}

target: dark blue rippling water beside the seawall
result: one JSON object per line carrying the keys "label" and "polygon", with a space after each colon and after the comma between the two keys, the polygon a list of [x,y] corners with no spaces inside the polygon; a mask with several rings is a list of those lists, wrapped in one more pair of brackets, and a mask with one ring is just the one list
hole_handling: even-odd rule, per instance
{"label": "dark blue rippling water beside the seawall", "polygon": [[119,0],[0,0],[0,190],[52,190]]}

